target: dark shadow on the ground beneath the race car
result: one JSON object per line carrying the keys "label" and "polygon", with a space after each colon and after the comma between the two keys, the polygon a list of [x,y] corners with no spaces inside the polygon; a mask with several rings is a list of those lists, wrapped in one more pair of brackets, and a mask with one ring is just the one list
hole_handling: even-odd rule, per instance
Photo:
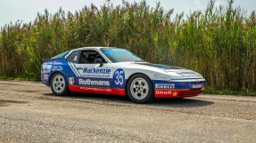
{"label": "dark shadow on the ground beneath the race car", "polygon": [[[66,98],[66,99],[90,99],[107,103],[124,103],[141,105],[132,102],[128,97],[120,97],[115,95],[92,94],[92,93],[72,93],[69,96],[55,96],[53,93],[43,94],[49,97]],[[204,107],[214,104],[212,101],[205,99],[195,99],[194,97],[185,99],[155,99],[152,103],[143,104],[152,107]]]}

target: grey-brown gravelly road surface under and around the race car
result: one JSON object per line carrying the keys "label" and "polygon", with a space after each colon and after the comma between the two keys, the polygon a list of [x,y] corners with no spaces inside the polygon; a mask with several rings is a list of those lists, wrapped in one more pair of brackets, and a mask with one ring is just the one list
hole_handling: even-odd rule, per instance
{"label": "grey-brown gravelly road surface under and around the race car", "polygon": [[256,98],[201,95],[139,105],[0,81],[0,142],[256,142]]}

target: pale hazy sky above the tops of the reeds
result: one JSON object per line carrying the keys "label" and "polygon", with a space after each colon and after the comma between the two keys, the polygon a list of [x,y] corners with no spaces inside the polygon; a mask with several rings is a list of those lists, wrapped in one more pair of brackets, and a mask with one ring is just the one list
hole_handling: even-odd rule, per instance
{"label": "pale hazy sky above the tops of the reeds", "polygon": [[[141,0],[126,0],[130,3]],[[146,0],[147,4],[155,7],[156,3],[161,3],[165,11],[174,8],[175,13],[185,12],[189,14],[194,11],[203,11],[210,0]],[[0,0],[0,27],[17,20],[29,22],[35,20],[37,12],[44,13],[47,9],[50,13],[55,13],[62,7],[67,12],[76,12],[85,5],[95,4],[101,6],[105,0]],[[122,4],[122,0],[111,0],[114,5]],[[227,0],[216,0],[216,5],[227,5]],[[240,5],[247,13],[256,11],[255,0],[235,0],[234,6]]]}

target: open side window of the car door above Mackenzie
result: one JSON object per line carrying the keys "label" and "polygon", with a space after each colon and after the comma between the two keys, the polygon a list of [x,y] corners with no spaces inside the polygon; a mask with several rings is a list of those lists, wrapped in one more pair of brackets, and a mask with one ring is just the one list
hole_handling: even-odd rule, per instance
{"label": "open side window of the car door above Mackenzie", "polygon": [[102,59],[103,63],[107,63],[107,61],[103,59],[103,56],[94,50],[82,51],[79,63],[94,64],[95,59]]}

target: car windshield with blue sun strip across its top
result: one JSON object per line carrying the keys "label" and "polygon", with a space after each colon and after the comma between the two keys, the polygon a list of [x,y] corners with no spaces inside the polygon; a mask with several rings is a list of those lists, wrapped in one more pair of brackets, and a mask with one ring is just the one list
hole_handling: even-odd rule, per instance
{"label": "car windshield with blue sun strip across its top", "polygon": [[120,48],[101,48],[103,54],[112,62],[144,61],[134,53]]}

